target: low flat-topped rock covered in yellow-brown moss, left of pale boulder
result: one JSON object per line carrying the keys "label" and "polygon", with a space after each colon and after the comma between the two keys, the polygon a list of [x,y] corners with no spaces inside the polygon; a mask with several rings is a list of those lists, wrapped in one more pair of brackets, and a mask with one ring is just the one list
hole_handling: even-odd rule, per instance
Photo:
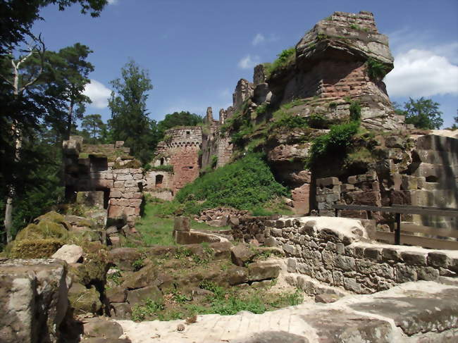
{"label": "low flat-topped rock covered in yellow-brown moss, left of pale boulder", "polygon": [[13,242],[11,257],[13,258],[47,258],[51,257],[64,242],[60,239],[23,239]]}

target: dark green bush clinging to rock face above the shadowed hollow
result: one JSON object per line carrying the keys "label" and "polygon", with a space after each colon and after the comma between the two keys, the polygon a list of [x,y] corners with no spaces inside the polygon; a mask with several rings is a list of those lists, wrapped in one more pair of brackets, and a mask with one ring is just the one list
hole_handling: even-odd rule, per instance
{"label": "dark green bush clinging to rock face above the shadowed hollow", "polygon": [[359,122],[353,121],[341,125],[333,125],[326,135],[316,137],[311,144],[307,166],[316,165],[320,158],[331,154],[345,154],[348,146],[352,144],[352,137],[357,134]]}

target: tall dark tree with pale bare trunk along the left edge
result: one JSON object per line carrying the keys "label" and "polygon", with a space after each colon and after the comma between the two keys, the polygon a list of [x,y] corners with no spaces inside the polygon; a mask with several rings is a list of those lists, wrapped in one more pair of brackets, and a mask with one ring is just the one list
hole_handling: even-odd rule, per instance
{"label": "tall dark tree with pale bare trunk along the left edge", "polygon": [[[40,37],[32,35],[35,20],[42,19],[39,11],[49,4],[57,4],[63,10],[79,3],[82,13],[98,16],[107,4],[106,0],[4,0],[0,1],[0,194],[6,199],[3,220],[7,240],[11,240],[13,201],[16,194],[25,189],[29,180],[35,179],[36,166],[30,161],[38,156],[35,151],[39,124],[48,113],[62,106],[37,87],[42,75],[44,44]],[[27,44],[26,40],[32,41]],[[19,48],[27,45],[25,51]],[[15,56],[13,51],[25,54]],[[37,54],[39,63],[30,63]],[[21,70],[21,71],[19,71]],[[35,73],[31,73],[35,70]],[[11,82],[12,81],[12,82]],[[45,125],[46,126],[46,125]],[[42,161],[42,160],[40,160]],[[4,203],[4,201],[1,201]]]}

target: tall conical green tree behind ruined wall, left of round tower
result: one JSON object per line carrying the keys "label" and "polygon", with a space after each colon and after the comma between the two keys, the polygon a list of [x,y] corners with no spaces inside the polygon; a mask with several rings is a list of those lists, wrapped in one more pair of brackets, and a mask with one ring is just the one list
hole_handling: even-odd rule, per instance
{"label": "tall conical green tree behind ruined wall, left of round tower", "polygon": [[130,60],[121,68],[121,77],[110,82],[113,92],[109,98],[113,139],[125,142],[132,154],[143,163],[149,162],[154,151],[155,122],[147,113],[147,92],[153,88],[147,70]]}

